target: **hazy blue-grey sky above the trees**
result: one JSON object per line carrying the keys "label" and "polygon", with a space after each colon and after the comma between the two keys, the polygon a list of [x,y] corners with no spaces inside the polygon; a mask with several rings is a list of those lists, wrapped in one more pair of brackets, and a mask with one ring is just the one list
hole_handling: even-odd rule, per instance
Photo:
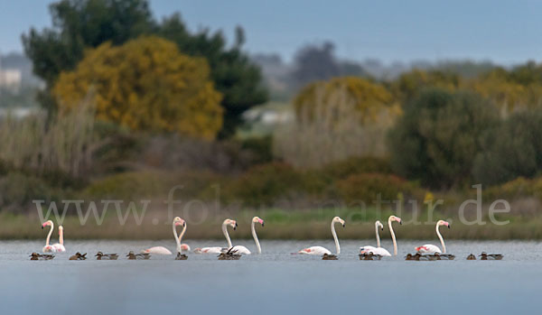
{"label": "hazy blue-grey sky above the trees", "polygon": [[[20,35],[51,25],[51,0],[0,0],[0,53],[22,51]],[[542,58],[542,1],[152,0],[156,17],[180,11],[192,30],[235,25],[251,53],[289,60],[306,43],[330,40],[350,60],[494,60]]]}

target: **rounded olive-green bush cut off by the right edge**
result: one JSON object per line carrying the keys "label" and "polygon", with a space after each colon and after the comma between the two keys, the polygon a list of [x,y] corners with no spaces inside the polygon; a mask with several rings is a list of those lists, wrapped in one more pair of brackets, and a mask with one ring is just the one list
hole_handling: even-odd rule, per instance
{"label": "rounded olive-green bush cut off by the right edge", "polygon": [[542,111],[519,112],[483,136],[474,178],[486,185],[532,178],[542,169]]}

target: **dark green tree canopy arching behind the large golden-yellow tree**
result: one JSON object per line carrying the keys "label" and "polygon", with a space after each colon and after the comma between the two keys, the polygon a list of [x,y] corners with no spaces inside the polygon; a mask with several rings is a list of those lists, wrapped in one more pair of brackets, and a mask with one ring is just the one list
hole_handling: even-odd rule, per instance
{"label": "dark green tree canopy arching behind the large golden-yellow tree", "polygon": [[33,60],[34,73],[47,83],[40,99],[51,111],[56,108],[49,93],[51,87],[61,71],[76,67],[85,49],[104,42],[121,45],[143,34],[164,37],[183,53],[208,60],[211,79],[223,95],[221,135],[233,134],[241,123],[241,114],[267,100],[260,70],[241,51],[245,41],[241,28],[229,48],[220,32],[189,32],[179,14],[157,23],[146,0],[61,0],[50,10],[53,27],[23,34],[23,46]]}

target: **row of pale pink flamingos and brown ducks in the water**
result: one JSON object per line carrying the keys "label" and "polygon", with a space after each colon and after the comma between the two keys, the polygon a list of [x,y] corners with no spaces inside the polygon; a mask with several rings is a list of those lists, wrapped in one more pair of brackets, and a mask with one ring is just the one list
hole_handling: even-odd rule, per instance
{"label": "row of pale pink flamingos and brown ducks in the water", "polygon": [[[388,218],[388,228],[389,228],[389,234],[391,236],[391,240],[393,243],[393,255],[397,256],[397,238],[393,229],[393,222],[398,222],[399,225],[403,224],[403,221],[401,218],[398,218],[396,216],[389,216]],[[258,217],[254,217],[251,220],[250,224],[250,230],[252,233],[252,237],[254,238],[254,242],[256,245],[256,253],[261,254],[262,253],[262,247],[260,246],[259,239],[257,237],[256,233],[256,225],[259,224],[262,227],[264,227],[264,220]],[[341,255],[341,245],[339,243],[339,237],[337,236],[337,231],[335,230],[336,224],[341,224],[342,227],[346,226],[345,220],[339,217],[332,218],[332,224],[331,224],[331,231],[333,236],[333,241],[335,242],[335,254],[332,254],[332,252],[323,247],[323,246],[310,246],[305,247],[301,250],[299,250],[297,253],[293,254],[300,254],[300,255],[318,255],[322,257],[322,260],[337,260],[338,255]],[[177,227],[181,226],[182,231],[180,235],[177,235]],[[444,244],[444,237],[440,233],[440,227],[448,227],[450,228],[451,225],[449,222],[444,220],[438,220],[436,222],[435,226],[435,232],[436,236],[439,238],[442,249],[438,246],[432,245],[432,244],[425,244],[423,246],[416,246],[415,254],[407,254],[405,259],[406,260],[415,260],[415,261],[435,261],[435,260],[453,260],[455,258],[454,255],[450,255],[446,253],[446,246]],[[45,240],[45,246],[42,248],[43,253],[63,253],[66,252],[66,248],[64,247],[64,228],[62,226],[59,226],[59,243],[56,243],[54,245],[50,245],[51,242],[51,235],[54,230],[54,224],[51,220],[48,220],[42,224],[42,229],[45,227],[51,227],[49,230],[49,233],[47,235],[47,238]],[[182,218],[175,217],[173,218],[173,238],[175,240],[176,244],[176,253],[175,260],[186,260],[188,259],[188,256],[184,253],[189,253],[191,251],[191,247],[187,244],[182,243],[182,237],[186,233],[186,221]],[[231,227],[234,231],[238,227],[238,223],[236,220],[227,218],[222,222],[221,230],[222,234],[226,238],[227,246],[210,246],[210,247],[198,247],[193,250],[193,254],[212,254],[212,255],[218,255],[219,260],[238,260],[242,255],[251,255],[252,252],[246,247],[246,246],[234,246],[231,242],[231,238],[229,237],[228,227]],[[375,222],[375,236],[377,239],[377,246],[361,246],[360,247],[360,260],[381,260],[382,257],[386,256],[392,256],[386,248],[383,248],[380,246],[380,235],[379,231],[384,230],[384,225],[377,220]],[[79,252],[75,255],[70,256],[70,260],[86,260],[87,253],[80,254]],[[130,251],[128,255],[126,255],[127,259],[129,260],[147,260],[150,259],[151,255],[173,255],[172,251],[170,251],[168,248],[164,246],[154,246],[147,249],[142,250],[139,254],[135,254],[133,251]],[[102,252],[98,252],[98,254],[95,255],[97,260],[117,260],[118,255],[117,254],[103,254]],[[55,255],[51,254],[38,254],[33,253],[31,256],[31,260],[51,260],[55,257]],[[480,255],[480,260],[501,260],[503,255],[501,254],[487,254],[485,252],[482,252]],[[471,254],[467,257],[467,260],[476,260],[476,256]]]}

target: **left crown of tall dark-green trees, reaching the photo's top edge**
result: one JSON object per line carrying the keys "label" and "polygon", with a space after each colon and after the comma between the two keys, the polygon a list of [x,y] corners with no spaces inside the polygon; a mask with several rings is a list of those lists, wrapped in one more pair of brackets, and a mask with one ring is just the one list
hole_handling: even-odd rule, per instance
{"label": "left crown of tall dark-green trees, reaching the photo's top edge", "polygon": [[49,87],[61,71],[77,66],[85,49],[108,41],[119,45],[154,29],[145,0],[61,0],[49,10],[52,28],[23,34],[33,71]]}

